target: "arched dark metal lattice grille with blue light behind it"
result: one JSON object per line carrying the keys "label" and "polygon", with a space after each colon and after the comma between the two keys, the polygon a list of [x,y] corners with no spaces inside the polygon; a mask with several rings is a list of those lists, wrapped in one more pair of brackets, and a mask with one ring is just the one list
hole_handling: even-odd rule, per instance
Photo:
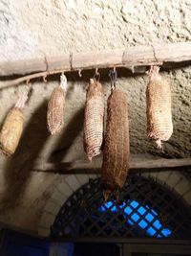
{"label": "arched dark metal lattice grille with blue light behind it", "polygon": [[152,178],[132,175],[106,203],[99,179],[90,179],[61,207],[52,237],[191,237],[191,214],[184,202]]}

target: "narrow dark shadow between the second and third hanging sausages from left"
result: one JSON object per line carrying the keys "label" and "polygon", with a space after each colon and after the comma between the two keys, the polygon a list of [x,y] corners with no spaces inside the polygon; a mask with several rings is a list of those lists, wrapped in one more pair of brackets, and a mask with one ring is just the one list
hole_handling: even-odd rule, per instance
{"label": "narrow dark shadow between the second and third hanging sausages from left", "polygon": [[48,161],[61,162],[67,151],[74,143],[74,139],[78,136],[83,128],[84,107],[74,113],[74,117],[69,122],[68,126],[63,129],[63,134],[56,143]]}

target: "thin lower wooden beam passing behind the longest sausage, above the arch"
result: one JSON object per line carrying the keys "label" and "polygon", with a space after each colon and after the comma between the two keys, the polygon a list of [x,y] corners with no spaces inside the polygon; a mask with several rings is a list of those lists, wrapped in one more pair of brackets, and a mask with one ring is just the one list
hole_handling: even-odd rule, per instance
{"label": "thin lower wooden beam passing behind the longest sausage, above the arch", "polygon": [[[191,171],[191,158],[183,159],[152,159],[130,161],[130,173],[149,173],[157,171]],[[97,157],[92,163],[84,161],[68,163],[43,163],[32,167],[35,172],[47,172],[58,174],[100,174],[101,157]]]}

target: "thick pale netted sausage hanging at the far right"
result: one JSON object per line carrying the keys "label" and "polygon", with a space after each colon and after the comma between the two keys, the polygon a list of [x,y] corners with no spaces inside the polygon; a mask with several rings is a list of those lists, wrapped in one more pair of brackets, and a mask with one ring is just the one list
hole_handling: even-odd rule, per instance
{"label": "thick pale netted sausage hanging at the far right", "polygon": [[159,70],[154,69],[146,89],[147,134],[159,147],[162,141],[170,139],[173,133],[171,113],[171,89],[163,80]]}

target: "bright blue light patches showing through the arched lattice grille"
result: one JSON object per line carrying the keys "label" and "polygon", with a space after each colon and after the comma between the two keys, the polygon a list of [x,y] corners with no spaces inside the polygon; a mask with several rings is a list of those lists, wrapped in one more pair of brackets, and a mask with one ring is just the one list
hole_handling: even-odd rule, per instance
{"label": "bright blue light patches showing through the arched lattice grille", "polygon": [[[120,205],[115,205],[115,202],[107,201],[104,203],[104,205],[101,205],[98,207],[99,212],[105,212],[106,210],[110,209],[111,212],[117,213],[120,211],[120,209],[123,209],[124,215],[123,218],[131,225],[133,226],[135,222],[138,222],[138,226],[142,229],[146,229],[146,233],[153,237],[156,235],[159,229],[161,229],[162,224],[157,219],[158,213],[151,209],[148,205],[140,205],[138,201],[136,200],[128,200],[128,205],[123,201]],[[126,207],[125,207],[126,206]],[[124,208],[125,207],[125,208]],[[137,208],[137,213],[135,212],[133,215],[133,209]],[[152,222],[152,226],[147,228],[148,224]],[[160,234],[157,235],[157,238],[162,237],[169,237],[171,235],[172,231],[168,228],[163,228],[160,231]]]}

